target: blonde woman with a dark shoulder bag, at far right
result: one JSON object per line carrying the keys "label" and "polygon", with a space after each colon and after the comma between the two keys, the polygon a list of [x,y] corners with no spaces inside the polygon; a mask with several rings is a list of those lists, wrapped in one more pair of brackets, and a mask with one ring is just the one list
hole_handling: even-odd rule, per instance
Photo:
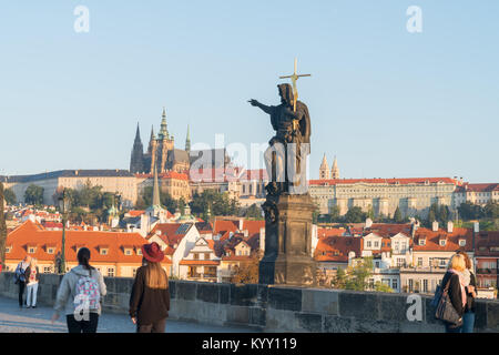
{"label": "blonde woman with a dark shoulder bag, at far right", "polygon": [[450,257],[447,273],[441,281],[441,287],[445,290],[449,283],[449,298],[456,312],[461,317],[458,324],[445,322],[446,333],[460,333],[462,326],[462,315],[465,314],[465,306],[467,302],[465,277],[462,275],[466,270],[465,257],[460,254],[454,254]]}

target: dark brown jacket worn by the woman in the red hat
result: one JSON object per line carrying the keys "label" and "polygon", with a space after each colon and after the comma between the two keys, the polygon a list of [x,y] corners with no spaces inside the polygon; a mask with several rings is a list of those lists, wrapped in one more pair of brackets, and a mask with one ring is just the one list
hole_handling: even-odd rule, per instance
{"label": "dark brown jacket worn by the woman in the red hat", "polygon": [[166,318],[170,311],[170,290],[167,287],[164,290],[147,287],[145,284],[146,267],[138,268],[130,295],[130,316],[136,317],[140,325]]}

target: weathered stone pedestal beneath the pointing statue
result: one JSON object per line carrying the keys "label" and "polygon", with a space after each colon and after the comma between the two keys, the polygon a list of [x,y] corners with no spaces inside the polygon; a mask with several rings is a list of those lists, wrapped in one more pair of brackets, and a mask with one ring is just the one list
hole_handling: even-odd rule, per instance
{"label": "weathered stone pedestal beneath the pointing statue", "polygon": [[310,255],[310,195],[283,193],[267,195],[265,211],[265,254],[259,262],[261,284],[314,286],[316,265]]}

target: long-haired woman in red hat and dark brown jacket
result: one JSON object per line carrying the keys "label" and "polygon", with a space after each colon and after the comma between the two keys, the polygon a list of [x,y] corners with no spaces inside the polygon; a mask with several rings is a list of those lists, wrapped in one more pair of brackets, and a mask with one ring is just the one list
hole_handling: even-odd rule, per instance
{"label": "long-haired woman in red hat and dark brown jacket", "polygon": [[156,242],[142,245],[143,264],[130,295],[130,316],[138,333],[164,333],[170,311],[169,276],[161,266],[164,253]]}

